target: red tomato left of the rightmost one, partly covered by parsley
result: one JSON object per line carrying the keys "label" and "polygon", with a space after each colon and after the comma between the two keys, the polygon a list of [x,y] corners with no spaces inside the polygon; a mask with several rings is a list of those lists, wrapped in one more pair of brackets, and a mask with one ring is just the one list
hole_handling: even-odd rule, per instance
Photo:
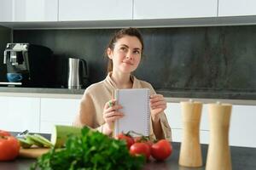
{"label": "red tomato left of the rightmost one, partly covered by parsley", "polygon": [[149,159],[150,147],[146,143],[135,143],[131,145],[130,154],[132,156],[143,155]]}

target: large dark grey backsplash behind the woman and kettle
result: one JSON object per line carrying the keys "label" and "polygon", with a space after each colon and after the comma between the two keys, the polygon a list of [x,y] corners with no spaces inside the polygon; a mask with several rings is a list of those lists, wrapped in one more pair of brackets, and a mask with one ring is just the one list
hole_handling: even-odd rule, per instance
{"label": "large dark grey backsplash behind the woman and kettle", "polygon": [[[85,59],[90,82],[106,76],[103,53],[116,29],[20,30],[14,42],[51,48],[60,59]],[[256,92],[256,26],[143,28],[145,50],[138,78],[164,91]],[[59,82],[62,69],[56,65]],[[66,79],[65,79],[66,80]],[[61,82],[61,83],[62,83]],[[188,96],[189,97],[189,96]]]}

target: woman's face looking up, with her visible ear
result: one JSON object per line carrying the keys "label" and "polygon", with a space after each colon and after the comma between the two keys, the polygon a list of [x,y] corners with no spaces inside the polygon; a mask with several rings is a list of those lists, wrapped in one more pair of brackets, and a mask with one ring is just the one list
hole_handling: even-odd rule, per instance
{"label": "woman's face looking up, with her visible ear", "polygon": [[142,43],[137,37],[122,37],[114,44],[113,50],[108,48],[108,57],[113,60],[113,71],[131,73],[141,61]]}

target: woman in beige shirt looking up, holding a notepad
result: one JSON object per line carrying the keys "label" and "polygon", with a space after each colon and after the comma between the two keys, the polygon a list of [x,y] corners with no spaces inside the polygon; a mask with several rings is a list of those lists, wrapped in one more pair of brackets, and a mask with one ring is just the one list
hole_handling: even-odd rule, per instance
{"label": "woman in beige shirt looking up, holding a notepad", "polygon": [[151,94],[149,138],[171,140],[171,128],[163,112],[166,109],[166,100],[162,95],[155,94],[154,88],[148,82],[138,80],[131,75],[131,72],[137,69],[143,54],[143,37],[140,32],[136,28],[118,31],[109,42],[106,53],[109,59],[108,76],[102,82],[86,88],[74,126],[86,125],[111,135],[113,123],[124,116],[119,111],[122,106],[115,105],[116,100],[112,98],[114,89],[149,88]]}

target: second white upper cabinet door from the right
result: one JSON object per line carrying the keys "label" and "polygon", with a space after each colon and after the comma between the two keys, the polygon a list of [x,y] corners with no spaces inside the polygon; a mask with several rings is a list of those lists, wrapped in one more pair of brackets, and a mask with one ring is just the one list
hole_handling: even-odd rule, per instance
{"label": "second white upper cabinet door from the right", "polygon": [[217,0],[134,0],[134,20],[217,17]]}

